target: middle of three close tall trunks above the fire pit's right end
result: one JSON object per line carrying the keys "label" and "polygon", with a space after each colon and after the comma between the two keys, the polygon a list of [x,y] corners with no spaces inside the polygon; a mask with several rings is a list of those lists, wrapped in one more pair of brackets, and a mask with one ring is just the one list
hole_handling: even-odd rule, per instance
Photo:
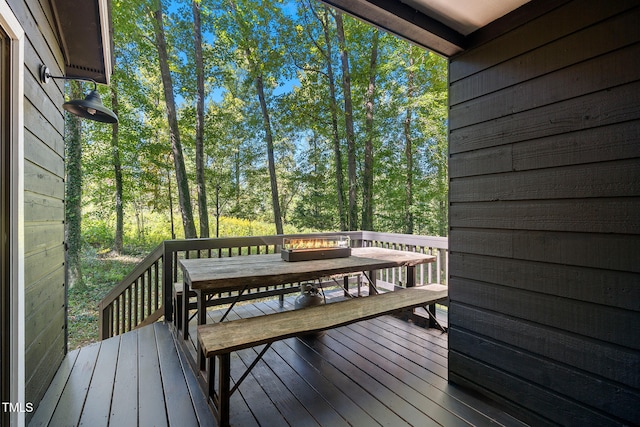
{"label": "middle of three close tall trunks above the fire pit's right end", "polygon": [[336,29],[342,63],[342,87],[344,92],[344,118],[347,133],[347,174],[349,179],[349,230],[358,228],[358,205],[356,201],[356,136],[353,130],[353,103],[351,100],[351,72],[349,51],[344,36],[342,12],[336,12]]}

